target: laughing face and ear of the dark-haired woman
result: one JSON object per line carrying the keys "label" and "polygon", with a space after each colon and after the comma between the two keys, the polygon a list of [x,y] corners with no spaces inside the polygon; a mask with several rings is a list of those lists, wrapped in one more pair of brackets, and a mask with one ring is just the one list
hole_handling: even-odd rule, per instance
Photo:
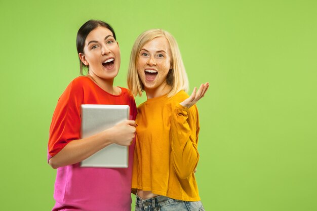
{"label": "laughing face and ear of the dark-haired woman", "polygon": [[79,54],[89,67],[89,74],[103,80],[113,79],[120,69],[120,49],[112,32],[102,26],[92,30],[85,40],[84,53]]}

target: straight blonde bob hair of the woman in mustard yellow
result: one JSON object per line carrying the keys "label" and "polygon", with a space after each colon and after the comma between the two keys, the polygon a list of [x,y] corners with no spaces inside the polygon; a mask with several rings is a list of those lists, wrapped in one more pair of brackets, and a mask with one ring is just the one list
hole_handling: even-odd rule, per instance
{"label": "straight blonde bob hair of the woman in mustard yellow", "polygon": [[131,56],[128,71],[128,87],[134,96],[142,96],[144,91],[144,85],[138,75],[137,61],[139,59],[140,51],[143,46],[156,37],[165,37],[168,40],[171,49],[171,67],[166,81],[171,90],[168,93],[168,97],[176,95],[179,91],[188,91],[188,78],[183,64],[183,60],[177,45],[175,38],[169,32],[163,29],[150,29],[144,31],[135,40]]}

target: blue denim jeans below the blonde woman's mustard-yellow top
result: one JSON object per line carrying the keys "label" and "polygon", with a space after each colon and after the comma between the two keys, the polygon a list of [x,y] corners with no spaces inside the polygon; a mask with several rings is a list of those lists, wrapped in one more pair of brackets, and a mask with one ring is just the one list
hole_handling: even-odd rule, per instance
{"label": "blue denim jeans below the blonde woman's mustard-yellow top", "polygon": [[136,196],[135,211],[205,211],[201,201],[181,201],[166,196],[141,199]]}

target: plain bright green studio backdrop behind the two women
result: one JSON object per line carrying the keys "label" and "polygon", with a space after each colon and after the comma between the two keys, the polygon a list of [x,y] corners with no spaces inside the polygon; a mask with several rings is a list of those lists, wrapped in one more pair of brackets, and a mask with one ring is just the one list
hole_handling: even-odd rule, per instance
{"label": "plain bright green studio backdrop behind the two women", "polygon": [[52,114],[79,75],[78,28],[101,19],[120,43],[115,85],[150,28],[176,37],[191,90],[210,82],[198,103],[206,210],[317,210],[316,11],[314,0],[0,0],[1,209],[52,208]]}

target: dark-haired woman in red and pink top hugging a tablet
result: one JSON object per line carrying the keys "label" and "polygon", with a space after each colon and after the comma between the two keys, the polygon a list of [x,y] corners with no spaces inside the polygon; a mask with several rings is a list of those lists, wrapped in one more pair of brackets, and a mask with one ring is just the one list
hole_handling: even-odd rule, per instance
{"label": "dark-haired woman in red and pink top hugging a tablet", "polygon": [[[48,162],[57,168],[53,210],[131,210],[136,105],[125,88],[114,87],[120,49],[112,27],[87,21],[77,33],[77,53],[88,74],[73,79],[60,96],[50,127]],[[130,119],[81,139],[81,104],[130,106]],[[129,147],[128,168],[82,168],[79,162],[115,143]]]}

